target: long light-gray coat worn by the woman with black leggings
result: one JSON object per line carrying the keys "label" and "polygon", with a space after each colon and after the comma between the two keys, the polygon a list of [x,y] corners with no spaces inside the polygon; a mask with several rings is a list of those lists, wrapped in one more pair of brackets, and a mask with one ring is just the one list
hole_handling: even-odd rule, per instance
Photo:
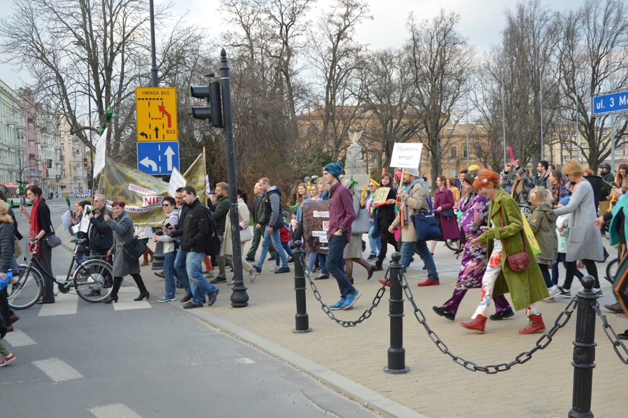
{"label": "long light-gray coat worn by the woman with black leggings", "polygon": [[567,206],[554,209],[554,213],[556,215],[571,214],[566,261],[604,260],[602,236],[593,224],[597,217],[593,188],[587,180],[578,183]]}

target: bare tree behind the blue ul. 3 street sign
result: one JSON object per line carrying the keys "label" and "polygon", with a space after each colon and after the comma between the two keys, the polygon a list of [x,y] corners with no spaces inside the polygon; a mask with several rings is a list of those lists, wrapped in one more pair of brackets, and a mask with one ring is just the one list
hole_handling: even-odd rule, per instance
{"label": "bare tree behind the blue ul. 3 street sign", "polygon": [[563,119],[571,126],[580,127],[585,143],[575,136],[565,140],[577,145],[587,159],[589,167],[598,167],[610,155],[610,143],[624,146],[628,119],[617,115],[615,138],[610,136],[610,117],[593,116],[591,97],[610,91],[610,62],[613,56],[614,88],[628,87],[628,21],[627,9],[622,1],[587,0],[576,12],[561,16],[559,45],[560,86],[563,92]]}

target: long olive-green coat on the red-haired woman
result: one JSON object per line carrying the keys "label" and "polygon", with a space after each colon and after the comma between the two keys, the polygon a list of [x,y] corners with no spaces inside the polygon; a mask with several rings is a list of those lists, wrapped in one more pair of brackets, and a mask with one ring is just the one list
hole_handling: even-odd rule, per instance
{"label": "long olive-green coat on the red-haired woman", "polygon": [[[499,227],[501,212],[504,214],[504,228]],[[495,281],[493,296],[510,293],[512,306],[516,311],[549,297],[541,269],[534,260],[532,247],[528,239],[525,238],[525,234],[523,236],[521,234],[523,221],[519,206],[509,194],[504,192],[504,189],[500,188],[495,199],[490,201],[489,219],[497,226],[480,235],[480,242],[487,246],[487,254],[490,255],[493,251],[494,239],[502,240],[502,271]],[[530,267],[523,272],[513,272],[506,261],[506,245],[509,254],[521,253],[523,251],[523,239],[526,239]],[[503,245],[504,241],[506,241],[506,245]]]}

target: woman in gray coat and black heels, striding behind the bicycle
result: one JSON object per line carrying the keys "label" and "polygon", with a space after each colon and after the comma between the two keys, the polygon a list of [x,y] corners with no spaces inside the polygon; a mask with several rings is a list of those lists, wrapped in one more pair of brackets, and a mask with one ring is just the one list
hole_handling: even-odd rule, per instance
{"label": "woman in gray coat and black heels, striding behind the bicycle", "polygon": [[133,277],[133,280],[135,280],[139,289],[139,296],[134,300],[142,300],[144,297],[148,299],[149,296],[148,290],[146,290],[146,286],[144,286],[144,281],[142,280],[141,275],[139,275],[139,258],[138,260],[129,262],[124,256],[124,248],[122,248],[122,246],[133,241],[135,234],[133,221],[131,220],[131,216],[124,211],[124,205],[124,201],[114,201],[111,204],[114,219],[111,219],[111,217],[107,214],[104,216],[107,226],[114,231],[114,246],[107,251],[107,255],[113,255],[114,258],[114,285],[111,289],[109,297],[106,300],[103,300],[106,304],[117,302],[117,292],[120,290],[122,278],[129,274]]}

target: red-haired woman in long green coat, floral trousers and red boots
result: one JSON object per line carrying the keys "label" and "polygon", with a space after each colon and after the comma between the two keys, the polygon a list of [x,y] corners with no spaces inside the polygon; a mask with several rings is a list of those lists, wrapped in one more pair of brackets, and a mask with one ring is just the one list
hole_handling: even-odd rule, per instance
{"label": "red-haired woman in long green coat, floral trousers and red boots", "polygon": [[[472,322],[459,322],[460,326],[484,333],[486,311],[493,295],[511,294],[512,306],[516,311],[526,309],[528,325],[519,330],[519,334],[534,334],[545,331],[543,317],[534,302],[549,297],[543,275],[534,253],[523,231],[523,221],[517,202],[499,187],[499,176],[490,170],[482,170],[475,179],[474,187],[490,200],[488,226],[482,227],[484,233],[475,238],[477,245],[486,245],[489,265],[482,277],[480,304],[471,317]],[[528,253],[530,266],[521,272],[511,270],[507,256],[516,253]]]}

